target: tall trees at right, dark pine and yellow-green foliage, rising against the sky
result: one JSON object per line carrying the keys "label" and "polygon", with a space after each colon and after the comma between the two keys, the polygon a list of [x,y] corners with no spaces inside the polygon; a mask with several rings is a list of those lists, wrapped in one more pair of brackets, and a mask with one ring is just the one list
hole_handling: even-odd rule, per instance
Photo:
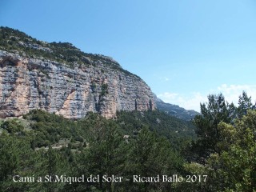
{"label": "tall trees at right, dark pine and yellow-green foliage, rising against the sky", "polygon": [[[190,188],[195,191],[256,191],[256,111],[251,110],[254,106],[250,98],[243,92],[236,107],[233,103],[224,104],[222,97],[210,96],[207,107],[205,104],[201,107],[202,116],[195,118],[199,139],[192,153],[197,152],[197,162],[202,164],[192,169],[194,162],[191,162],[185,170],[189,174],[204,170],[208,180]],[[214,141],[210,142],[211,146],[206,145],[207,139]]]}

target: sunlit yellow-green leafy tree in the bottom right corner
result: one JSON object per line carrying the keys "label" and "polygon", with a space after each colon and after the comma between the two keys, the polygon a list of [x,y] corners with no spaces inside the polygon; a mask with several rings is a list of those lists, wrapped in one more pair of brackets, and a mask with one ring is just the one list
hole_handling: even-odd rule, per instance
{"label": "sunlit yellow-green leafy tree in the bottom right corner", "polygon": [[[247,114],[234,123],[234,126],[220,123],[218,129],[222,141],[218,143],[220,154],[212,154],[208,166],[213,168],[218,190],[256,190],[256,111]],[[216,169],[217,168],[217,169]]]}

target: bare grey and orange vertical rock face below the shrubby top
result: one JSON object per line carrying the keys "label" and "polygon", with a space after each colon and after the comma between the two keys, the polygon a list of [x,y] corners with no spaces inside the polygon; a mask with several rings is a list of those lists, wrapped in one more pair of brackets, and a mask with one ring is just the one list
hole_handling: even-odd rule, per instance
{"label": "bare grey and orange vertical rock face below the shrubby top", "polygon": [[117,110],[154,110],[154,94],[141,78],[101,60],[66,66],[21,55],[0,50],[0,118],[33,109],[65,118],[83,118],[89,111],[113,118]]}

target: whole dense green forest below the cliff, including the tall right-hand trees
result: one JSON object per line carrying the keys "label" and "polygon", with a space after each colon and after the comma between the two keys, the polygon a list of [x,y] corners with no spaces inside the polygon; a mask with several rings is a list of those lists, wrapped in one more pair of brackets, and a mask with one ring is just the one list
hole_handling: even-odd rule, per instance
{"label": "whole dense green forest below the cliff, including the tall right-hand trees", "polygon": [[31,110],[2,119],[0,133],[0,191],[256,191],[245,92],[238,106],[209,95],[193,122],[158,110],[80,120]]}

